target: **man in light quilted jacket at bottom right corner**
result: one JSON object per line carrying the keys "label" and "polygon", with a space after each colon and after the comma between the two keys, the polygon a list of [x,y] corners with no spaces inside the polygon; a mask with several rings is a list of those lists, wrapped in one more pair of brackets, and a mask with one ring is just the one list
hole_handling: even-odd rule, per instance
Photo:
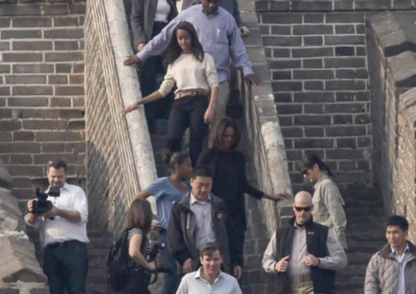
{"label": "man in light quilted jacket at bottom right corner", "polygon": [[368,263],[365,294],[416,294],[416,246],[406,240],[407,235],[406,218],[388,218],[388,243]]}

